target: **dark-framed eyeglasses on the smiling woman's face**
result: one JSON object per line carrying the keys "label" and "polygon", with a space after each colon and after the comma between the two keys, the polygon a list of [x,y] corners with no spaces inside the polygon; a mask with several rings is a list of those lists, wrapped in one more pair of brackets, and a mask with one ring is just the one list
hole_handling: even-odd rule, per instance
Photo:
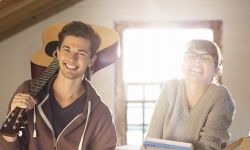
{"label": "dark-framed eyeglasses on the smiling woman's face", "polygon": [[195,52],[186,52],[185,59],[187,59],[189,61],[195,61],[195,60],[199,59],[201,62],[206,63],[206,64],[214,62],[213,56],[211,56],[209,54],[198,54]]}

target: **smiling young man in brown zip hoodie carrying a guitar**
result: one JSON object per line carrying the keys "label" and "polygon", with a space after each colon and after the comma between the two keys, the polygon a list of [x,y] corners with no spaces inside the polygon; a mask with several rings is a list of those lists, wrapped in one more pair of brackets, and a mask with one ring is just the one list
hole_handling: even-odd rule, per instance
{"label": "smiling young man in brown zip hoodie carrying a guitar", "polygon": [[[96,60],[101,40],[93,28],[73,21],[58,34],[59,72],[42,90],[38,103],[28,93],[33,80],[25,81],[13,96],[10,111],[27,112],[30,150],[113,150],[116,131],[109,108],[84,78]],[[37,104],[37,107],[35,106]],[[0,149],[18,150],[17,137],[0,136]]]}

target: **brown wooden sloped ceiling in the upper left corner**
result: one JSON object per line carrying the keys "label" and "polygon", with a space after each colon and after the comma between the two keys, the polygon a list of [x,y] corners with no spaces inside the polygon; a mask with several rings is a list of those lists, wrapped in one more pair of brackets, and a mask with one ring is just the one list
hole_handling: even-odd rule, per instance
{"label": "brown wooden sloped ceiling in the upper left corner", "polygon": [[0,0],[0,41],[82,0]]}

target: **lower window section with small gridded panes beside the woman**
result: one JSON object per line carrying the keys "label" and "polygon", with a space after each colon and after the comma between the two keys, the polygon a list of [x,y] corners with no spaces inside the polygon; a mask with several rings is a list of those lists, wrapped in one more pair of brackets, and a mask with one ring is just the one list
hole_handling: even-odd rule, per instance
{"label": "lower window section with small gridded panes beside the woman", "polygon": [[127,87],[127,144],[139,145],[148,130],[161,83],[125,83]]}

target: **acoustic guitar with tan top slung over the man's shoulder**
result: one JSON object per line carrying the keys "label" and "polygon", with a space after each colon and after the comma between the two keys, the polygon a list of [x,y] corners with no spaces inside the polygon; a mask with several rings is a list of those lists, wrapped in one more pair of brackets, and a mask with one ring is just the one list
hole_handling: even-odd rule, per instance
{"label": "acoustic guitar with tan top slung over the man's shoulder", "polygon": [[[31,76],[35,78],[34,84],[30,88],[30,95],[37,97],[41,89],[48,83],[58,71],[58,61],[55,57],[55,50],[58,44],[58,33],[66,23],[57,23],[48,26],[43,31],[44,47],[31,57]],[[109,28],[91,25],[101,37],[101,45],[97,50],[97,60],[91,72],[94,73],[112,63],[118,58],[117,48],[119,36]],[[39,103],[39,99],[38,99]],[[25,127],[27,120],[26,109],[17,107],[7,116],[6,121],[0,128],[2,135],[15,136]]]}

